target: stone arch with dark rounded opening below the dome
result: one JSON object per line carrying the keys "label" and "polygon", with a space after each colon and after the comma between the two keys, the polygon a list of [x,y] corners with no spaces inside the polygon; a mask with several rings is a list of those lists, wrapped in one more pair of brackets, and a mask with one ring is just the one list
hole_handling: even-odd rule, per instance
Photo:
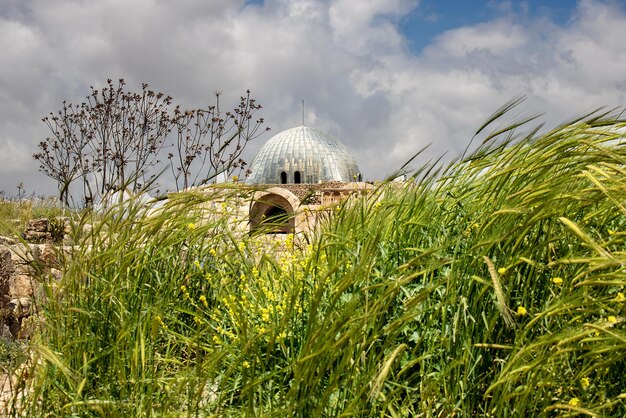
{"label": "stone arch with dark rounded opening below the dome", "polygon": [[254,194],[250,205],[250,232],[291,234],[296,229],[300,202],[289,190],[272,187]]}

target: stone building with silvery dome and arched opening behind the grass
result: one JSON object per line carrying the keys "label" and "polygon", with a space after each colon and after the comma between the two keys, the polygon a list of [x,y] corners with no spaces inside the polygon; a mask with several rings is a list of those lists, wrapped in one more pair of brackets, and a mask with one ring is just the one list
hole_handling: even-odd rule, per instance
{"label": "stone building with silvery dome and arched opening behind the grass", "polygon": [[250,165],[245,183],[258,188],[249,206],[250,231],[305,232],[350,196],[372,188],[337,138],[299,126],[269,139]]}

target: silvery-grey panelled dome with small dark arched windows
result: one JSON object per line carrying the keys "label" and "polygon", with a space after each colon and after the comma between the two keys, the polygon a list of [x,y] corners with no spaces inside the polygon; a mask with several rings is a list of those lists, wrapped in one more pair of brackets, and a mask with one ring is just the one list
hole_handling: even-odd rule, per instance
{"label": "silvery-grey panelled dome with small dark arched windows", "polygon": [[359,168],[337,138],[308,126],[282,131],[265,143],[250,164],[249,184],[350,182]]}

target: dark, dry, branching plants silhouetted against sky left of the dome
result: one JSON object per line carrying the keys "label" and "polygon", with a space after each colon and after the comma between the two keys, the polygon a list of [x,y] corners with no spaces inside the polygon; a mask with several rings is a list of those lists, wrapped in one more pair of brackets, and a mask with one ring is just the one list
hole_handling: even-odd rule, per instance
{"label": "dark, dry, branching plants silhouetted against sky left of the dome", "polygon": [[180,190],[245,169],[240,156],[263,124],[252,119],[259,109],[250,91],[232,111],[220,108],[220,93],[214,105],[184,110],[148,84],[133,92],[123,79],[117,86],[109,79],[101,90],[92,86],[80,105],[64,101],[43,118],[51,136],[33,157],[66,206],[91,206],[126,189],[139,193],[167,171]]}

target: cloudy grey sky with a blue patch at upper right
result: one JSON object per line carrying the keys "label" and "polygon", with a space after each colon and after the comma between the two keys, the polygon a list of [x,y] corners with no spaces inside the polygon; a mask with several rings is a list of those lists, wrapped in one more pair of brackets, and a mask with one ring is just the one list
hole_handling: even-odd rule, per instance
{"label": "cloudy grey sky with a blue patch at upper right", "polygon": [[[89,86],[147,82],[185,106],[246,89],[272,129],[340,138],[366,179],[462,152],[505,102],[558,124],[626,103],[616,0],[0,0],[0,190],[54,194],[41,118]],[[248,158],[250,160],[251,158]]]}

